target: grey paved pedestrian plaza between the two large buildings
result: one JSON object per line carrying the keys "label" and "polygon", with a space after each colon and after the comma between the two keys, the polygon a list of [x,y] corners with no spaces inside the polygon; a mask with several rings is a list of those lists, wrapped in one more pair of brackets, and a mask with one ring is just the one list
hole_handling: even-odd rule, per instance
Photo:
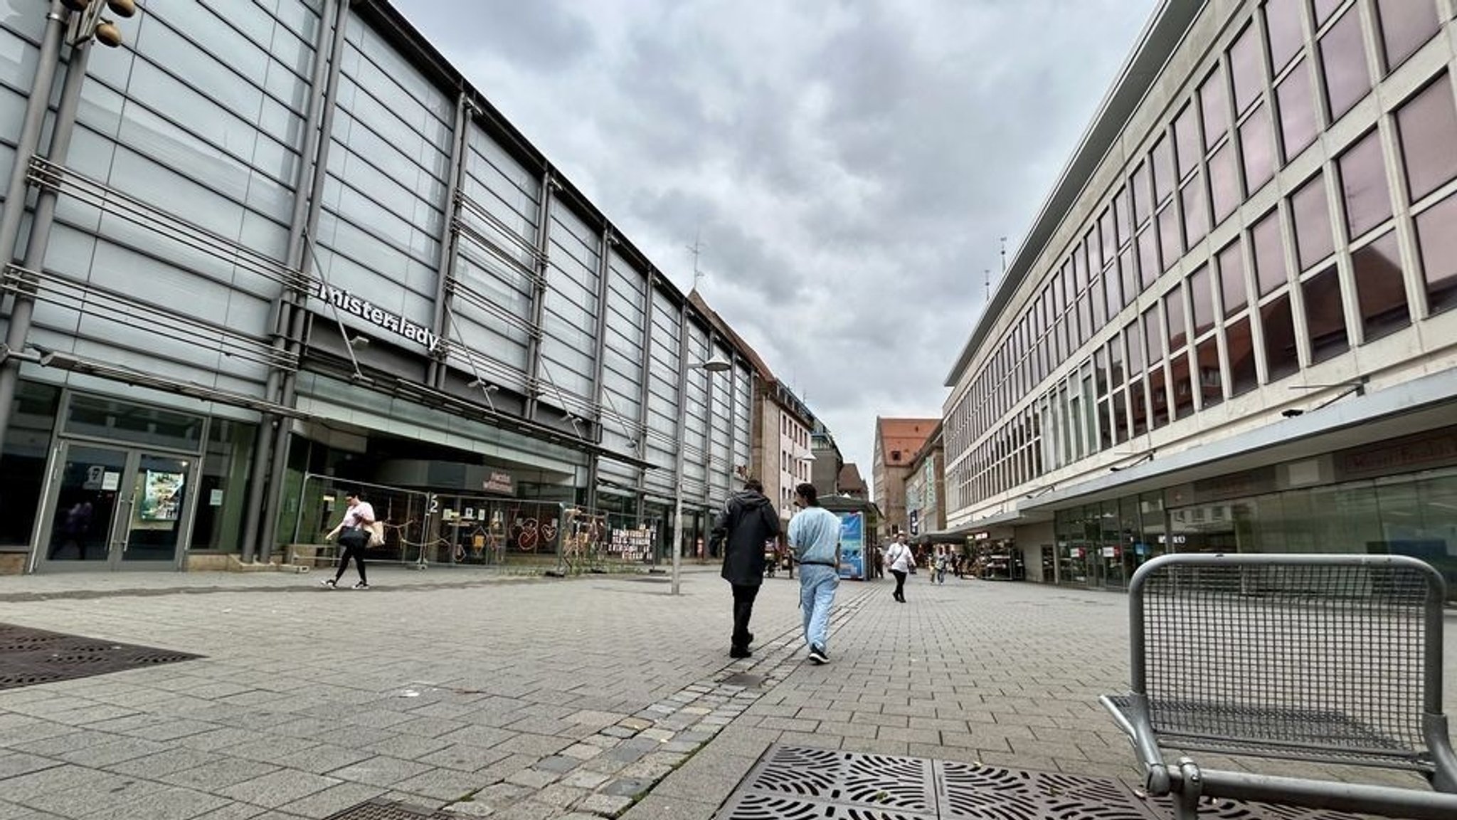
{"label": "grey paved pedestrian plaza between the two large buildings", "polygon": [[771,743],[1134,775],[1097,705],[1126,687],[1115,592],[916,575],[900,606],[847,582],[813,667],[782,576],[733,662],[715,568],[678,598],[660,575],[318,578],[0,578],[0,623],[205,655],[0,690],[0,820],[322,819],[373,798],[708,819]]}

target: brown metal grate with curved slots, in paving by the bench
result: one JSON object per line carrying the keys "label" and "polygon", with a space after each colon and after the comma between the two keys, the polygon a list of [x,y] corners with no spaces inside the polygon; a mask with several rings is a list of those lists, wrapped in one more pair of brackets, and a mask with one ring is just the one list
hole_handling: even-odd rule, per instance
{"label": "brown metal grate with curved slots, in paving by the bench", "polygon": [[[1212,801],[1209,820],[1356,820],[1336,811]],[[771,746],[717,820],[1169,820],[1167,801],[1113,778]]]}

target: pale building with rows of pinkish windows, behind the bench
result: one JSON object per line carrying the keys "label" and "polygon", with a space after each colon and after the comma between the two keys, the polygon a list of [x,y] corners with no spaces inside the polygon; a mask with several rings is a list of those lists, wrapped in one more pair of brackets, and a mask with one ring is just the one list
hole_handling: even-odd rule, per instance
{"label": "pale building with rows of pinkish windows, behind the bench", "polygon": [[1451,575],[1453,16],[1160,9],[947,379],[950,528],[1049,582],[1167,550]]}

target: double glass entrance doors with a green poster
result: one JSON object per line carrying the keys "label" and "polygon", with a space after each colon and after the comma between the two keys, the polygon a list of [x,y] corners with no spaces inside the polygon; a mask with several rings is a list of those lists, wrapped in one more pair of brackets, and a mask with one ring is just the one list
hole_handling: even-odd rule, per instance
{"label": "double glass entrance doors with a green poster", "polygon": [[191,486],[186,457],[63,442],[36,568],[175,569]]}

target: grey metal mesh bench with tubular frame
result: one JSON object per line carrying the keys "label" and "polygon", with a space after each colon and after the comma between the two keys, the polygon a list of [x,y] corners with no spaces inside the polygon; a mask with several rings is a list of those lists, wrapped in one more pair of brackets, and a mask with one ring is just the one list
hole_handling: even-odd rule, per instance
{"label": "grey metal mesh bench with tubular frame", "polygon": [[[1170,554],[1128,588],[1132,692],[1103,705],[1151,795],[1457,819],[1442,713],[1442,601],[1416,559]],[[1201,769],[1163,749],[1405,769],[1435,791]]]}

